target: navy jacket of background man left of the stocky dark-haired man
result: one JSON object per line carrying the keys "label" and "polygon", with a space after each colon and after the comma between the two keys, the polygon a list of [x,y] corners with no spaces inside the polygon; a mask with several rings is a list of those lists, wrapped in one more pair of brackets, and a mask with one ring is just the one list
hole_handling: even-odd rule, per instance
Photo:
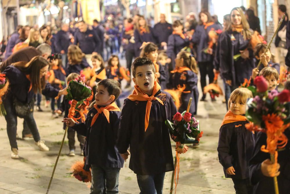
{"label": "navy jacket of background man left of the stocky dark-haired man", "polygon": [[69,32],[65,32],[60,30],[55,35],[55,51],[56,53],[60,53],[60,51],[64,50],[65,53],[68,53],[68,47],[71,44],[70,42],[70,34]]}

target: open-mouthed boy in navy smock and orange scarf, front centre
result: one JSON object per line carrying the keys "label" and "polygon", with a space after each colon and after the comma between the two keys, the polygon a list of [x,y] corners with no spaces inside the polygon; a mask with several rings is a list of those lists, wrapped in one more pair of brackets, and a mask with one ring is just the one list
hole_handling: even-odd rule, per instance
{"label": "open-mouthed boy in navy smock and orange scarf, front centre", "polygon": [[131,69],[135,90],[124,100],[117,148],[137,174],[141,193],[162,193],[165,172],[174,169],[165,120],[177,112],[172,97],[161,90],[153,62],[137,57]]}

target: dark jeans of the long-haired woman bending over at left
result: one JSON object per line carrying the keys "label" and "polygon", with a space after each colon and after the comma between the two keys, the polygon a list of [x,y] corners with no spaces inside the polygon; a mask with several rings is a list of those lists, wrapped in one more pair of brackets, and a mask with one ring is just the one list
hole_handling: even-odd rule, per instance
{"label": "dark jeans of the long-haired woman bending over at left", "polygon": [[[14,108],[12,97],[7,97],[3,100],[4,108],[6,110],[5,120],[7,122],[7,135],[9,138],[9,143],[11,148],[17,148],[17,142],[16,142],[16,131],[17,131],[17,115]],[[33,138],[35,142],[38,142],[40,140],[39,132],[35,123],[35,120],[33,118],[33,114],[28,114],[24,121],[26,122],[27,126],[29,127]]]}

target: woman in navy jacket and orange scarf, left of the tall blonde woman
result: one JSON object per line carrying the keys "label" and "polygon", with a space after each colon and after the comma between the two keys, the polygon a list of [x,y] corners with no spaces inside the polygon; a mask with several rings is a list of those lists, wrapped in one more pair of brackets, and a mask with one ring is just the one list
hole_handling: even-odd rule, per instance
{"label": "woman in navy jacket and orange scarf, left of the tall blonde woman", "polygon": [[[209,76],[209,83],[213,82],[213,53],[214,46],[209,42],[209,32],[212,30],[219,30],[221,26],[215,24],[208,11],[202,11],[199,14],[200,25],[198,25],[193,33],[192,42],[197,45],[197,61],[200,68],[200,84],[203,88],[206,86],[206,74]],[[203,94],[202,101],[205,100],[206,95]],[[212,99],[213,100],[213,99]]]}

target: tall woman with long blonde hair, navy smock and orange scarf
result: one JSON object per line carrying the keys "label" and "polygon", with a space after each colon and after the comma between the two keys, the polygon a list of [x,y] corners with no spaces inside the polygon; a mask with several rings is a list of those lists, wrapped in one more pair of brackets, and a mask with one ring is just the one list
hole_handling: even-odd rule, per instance
{"label": "tall woman with long blonde hair, navy smock and orange scarf", "polygon": [[250,40],[253,31],[241,8],[231,10],[231,24],[220,34],[218,44],[220,75],[225,82],[226,105],[228,99],[244,79],[250,79],[254,68],[253,49]]}

